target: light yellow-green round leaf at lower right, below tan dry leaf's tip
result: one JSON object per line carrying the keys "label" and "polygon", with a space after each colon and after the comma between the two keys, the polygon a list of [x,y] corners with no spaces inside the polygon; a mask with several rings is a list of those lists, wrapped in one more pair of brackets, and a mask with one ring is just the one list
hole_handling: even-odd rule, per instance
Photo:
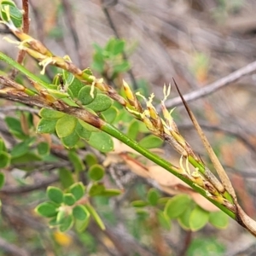
{"label": "light yellow-green round leaf at lower right, below tan dry leaf's tip", "polygon": [[209,212],[197,206],[189,217],[189,226],[192,231],[201,230],[209,220]]}

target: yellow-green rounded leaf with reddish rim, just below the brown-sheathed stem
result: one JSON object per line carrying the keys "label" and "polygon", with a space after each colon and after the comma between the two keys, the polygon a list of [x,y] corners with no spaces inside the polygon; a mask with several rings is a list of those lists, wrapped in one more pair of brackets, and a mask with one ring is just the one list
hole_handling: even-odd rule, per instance
{"label": "yellow-green rounded leaf with reddish rim, just below the brown-sheathed stem", "polygon": [[61,119],[58,119],[55,126],[58,137],[67,137],[75,132],[77,121],[78,119],[68,114],[65,114]]}

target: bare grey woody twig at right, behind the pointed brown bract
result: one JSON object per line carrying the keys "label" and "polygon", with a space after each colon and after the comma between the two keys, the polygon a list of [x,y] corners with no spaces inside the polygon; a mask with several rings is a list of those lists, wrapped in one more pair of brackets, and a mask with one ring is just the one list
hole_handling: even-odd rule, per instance
{"label": "bare grey woody twig at right, behind the pointed brown bract", "polygon": [[[235,82],[237,79],[241,79],[241,77],[243,77],[249,73],[253,73],[254,71],[256,71],[256,61],[253,61],[252,63],[248,64],[245,67],[241,67],[240,69],[236,70],[235,72],[230,73],[226,77],[219,79],[212,84],[208,84],[201,89],[193,90],[192,92],[184,94],[183,95],[184,100],[186,102],[192,102],[199,98],[205,97],[205,96],[223,88],[224,86]],[[167,100],[165,103],[166,103],[166,108],[173,108],[173,107],[177,107],[178,105],[183,104],[183,102],[179,96],[177,96],[173,99]],[[157,109],[160,109],[160,106],[158,106]]]}

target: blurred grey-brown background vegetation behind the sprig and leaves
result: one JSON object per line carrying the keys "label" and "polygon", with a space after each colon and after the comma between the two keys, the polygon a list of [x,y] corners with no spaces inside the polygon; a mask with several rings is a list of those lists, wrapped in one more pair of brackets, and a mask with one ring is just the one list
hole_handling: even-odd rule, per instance
{"label": "blurred grey-brown background vegetation behind the sprig and leaves", "polygon": [[[21,8],[20,1],[16,3]],[[97,77],[103,77],[115,88],[125,79],[144,95],[154,92],[156,104],[163,96],[163,84],[169,84],[172,77],[186,94],[203,89],[256,58],[253,0],[30,0],[29,3],[32,37],[44,42],[56,55],[69,55],[80,68],[91,67]],[[4,26],[0,26],[0,32],[1,38],[9,33]],[[18,53],[18,49],[2,39],[0,49],[14,59]],[[116,49],[122,50],[113,53]],[[25,65],[32,73],[41,70],[29,56]],[[49,68],[43,79],[53,79],[54,74],[54,68]],[[241,206],[253,218],[255,82],[256,75],[250,74],[207,97],[189,102],[224,164]],[[177,92],[172,90],[171,96],[177,96]],[[1,106],[9,106],[8,102],[4,104]],[[9,113],[1,112],[0,107],[0,132],[6,134],[3,114]],[[176,108],[174,118],[184,137],[207,161],[183,107]],[[177,153],[165,145],[163,148],[171,162],[178,162]],[[52,169],[49,168],[52,171],[49,173],[55,173],[55,168]],[[121,167],[114,175],[119,176],[117,180],[125,194],[94,201],[107,231],[96,224],[90,224],[81,234],[49,230],[33,212],[45,198],[49,183],[24,193],[13,189],[17,183],[33,188],[33,182],[44,179],[43,171],[44,166],[39,165],[26,177],[18,166],[12,174],[8,172],[9,187],[1,194],[4,207],[0,218],[3,239],[0,255],[15,255],[1,253],[5,242],[20,247],[20,255],[254,255],[256,242],[231,220],[224,230],[207,224],[204,229],[192,232],[183,230],[177,221],[172,222],[172,228],[163,228],[166,224],[156,221],[154,207],[148,209],[148,214],[136,212],[131,201],[147,201],[148,189],[155,184]],[[55,184],[54,178],[49,182]],[[172,189],[177,188],[171,184],[159,193],[166,196],[166,191]]]}

